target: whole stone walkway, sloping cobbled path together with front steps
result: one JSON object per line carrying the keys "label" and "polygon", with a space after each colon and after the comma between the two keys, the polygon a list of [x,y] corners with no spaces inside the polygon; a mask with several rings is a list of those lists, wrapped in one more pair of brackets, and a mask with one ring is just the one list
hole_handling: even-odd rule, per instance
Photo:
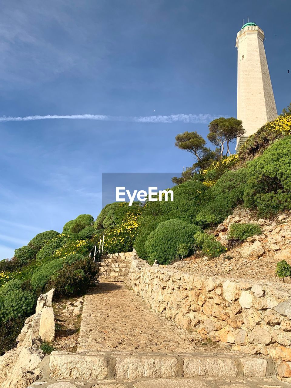
{"label": "whole stone walkway, sloping cobbled path together with front steps", "polygon": [[192,335],[149,310],[122,283],[100,282],[85,296],[77,352],[45,357],[37,383],[43,388],[284,386],[273,377],[271,359],[223,353],[207,344],[198,348]]}

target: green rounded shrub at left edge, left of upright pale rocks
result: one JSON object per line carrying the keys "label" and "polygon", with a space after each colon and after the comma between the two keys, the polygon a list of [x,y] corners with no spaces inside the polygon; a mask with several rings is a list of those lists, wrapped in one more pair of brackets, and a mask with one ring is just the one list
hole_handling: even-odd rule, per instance
{"label": "green rounded shrub at left edge, left of upright pale rocks", "polygon": [[11,280],[0,289],[0,322],[26,317],[32,312],[35,295],[21,288],[21,281]]}

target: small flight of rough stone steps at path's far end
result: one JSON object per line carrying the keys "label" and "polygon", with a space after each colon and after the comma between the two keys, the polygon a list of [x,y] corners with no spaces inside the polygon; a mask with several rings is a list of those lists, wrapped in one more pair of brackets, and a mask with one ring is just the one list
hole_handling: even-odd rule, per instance
{"label": "small flight of rough stone steps at path's far end", "polygon": [[137,254],[135,252],[113,253],[100,258],[100,280],[123,282],[127,279],[130,264]]}

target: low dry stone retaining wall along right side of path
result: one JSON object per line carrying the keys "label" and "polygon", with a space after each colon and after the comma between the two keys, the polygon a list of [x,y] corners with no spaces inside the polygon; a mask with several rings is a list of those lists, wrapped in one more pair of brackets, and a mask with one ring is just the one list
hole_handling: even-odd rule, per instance
{"label": "low dry stone retaining wall along right side of path", "polygon": [[144,260],[132,261],[127,284],[152,310],[201,339],[291,367],[291,286],[196,277]]}

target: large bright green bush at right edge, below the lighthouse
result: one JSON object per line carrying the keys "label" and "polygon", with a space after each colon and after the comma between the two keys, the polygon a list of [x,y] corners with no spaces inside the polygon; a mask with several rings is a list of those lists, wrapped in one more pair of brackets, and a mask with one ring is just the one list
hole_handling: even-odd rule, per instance
{"label": "large bright green bush at right edge, below the lighthouse", "polygon": [[290,150],[291,136],[288,136],[248,164],[244,204],[257,209],[259,217],[272,217],[278,211],[291,209]]}

